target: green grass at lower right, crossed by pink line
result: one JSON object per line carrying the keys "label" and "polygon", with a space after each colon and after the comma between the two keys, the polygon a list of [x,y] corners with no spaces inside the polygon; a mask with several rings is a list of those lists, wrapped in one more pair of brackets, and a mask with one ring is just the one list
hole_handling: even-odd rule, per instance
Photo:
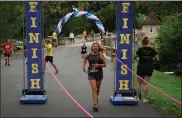
{"label": "green grass at lower right, crossed by pink line", "polygon": [[[136,66],[135,66],[136,67]],[[136,70],[136,68],[134,69]],[[134,85],[136,87],[136,77],[134,77]],[[165,93],[173,96],[174,98],[182,101],[181,98],[181,85],[182,78],[174,75],[166,75],[163,72],[154,71],[151,77],[151,84],[164,91]],[[181,105],[162,95],[156,89],[150,86],[149,88],[149,101],[158,111],[166,117],[182,117]]]}

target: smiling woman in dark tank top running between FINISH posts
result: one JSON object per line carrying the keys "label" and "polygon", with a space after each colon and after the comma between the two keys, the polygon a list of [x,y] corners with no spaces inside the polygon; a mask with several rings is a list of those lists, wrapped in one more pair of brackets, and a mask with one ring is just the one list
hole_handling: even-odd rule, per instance
{"label": "smiling woman in dark tank top running between FINISH posts", "polygon": [[100,52],[99,43],[93,43],[91,47],[91,53],[83,58],[83,71],[86,73],[86,64],[89,63],[87,70],[88,80],[92,88],[93,97],[93,110],[98,111],[98,95],[100,92],[100,86],[103,79],[103,67],[106,67],[106,60],[103,54]]}

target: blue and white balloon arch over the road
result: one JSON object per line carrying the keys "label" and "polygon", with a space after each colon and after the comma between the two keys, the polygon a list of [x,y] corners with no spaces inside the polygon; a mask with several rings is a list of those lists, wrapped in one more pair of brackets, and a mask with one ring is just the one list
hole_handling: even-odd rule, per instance
{"label": "blue and white balloon arch over the road", "polygon": [[92,20],[98,27],[98,29],[100,30],[101,34],[105,33],[105,29],[104,26],[102,24],[102,22],[97,18],[97,16],[95,16],[94,14],[87,12],[87,11],[79,11],[79,10],[75,10],[74,12],[68,13],[66,14],[58,23],[57,28],[56,28],[56,33],[60,34],[63,28],[63,25],[70,20],[73,17],[85,17],[88,18],[90,20]]}

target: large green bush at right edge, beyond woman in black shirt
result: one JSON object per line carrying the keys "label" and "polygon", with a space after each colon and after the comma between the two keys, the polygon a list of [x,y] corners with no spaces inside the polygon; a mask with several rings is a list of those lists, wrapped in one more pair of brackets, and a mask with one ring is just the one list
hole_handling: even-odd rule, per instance
{"label": "large green bush at right edge, beyond woman in black shirt", "polygon": [[159,31],[159,55],[164,69],[175,71],[182,66],[182,14],[167,16]]}

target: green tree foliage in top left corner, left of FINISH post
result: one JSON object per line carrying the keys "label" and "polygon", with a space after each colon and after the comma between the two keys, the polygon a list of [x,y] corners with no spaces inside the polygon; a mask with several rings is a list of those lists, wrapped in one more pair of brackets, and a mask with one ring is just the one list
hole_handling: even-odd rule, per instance
{"label": "green tree foliage in top left corner, left of FINISH post", "polygon": [[23,40],[25,16],[23,7],[23,2],[1,2],[0,43],[4,42],[8,38],[17,38],[19,40]]}

